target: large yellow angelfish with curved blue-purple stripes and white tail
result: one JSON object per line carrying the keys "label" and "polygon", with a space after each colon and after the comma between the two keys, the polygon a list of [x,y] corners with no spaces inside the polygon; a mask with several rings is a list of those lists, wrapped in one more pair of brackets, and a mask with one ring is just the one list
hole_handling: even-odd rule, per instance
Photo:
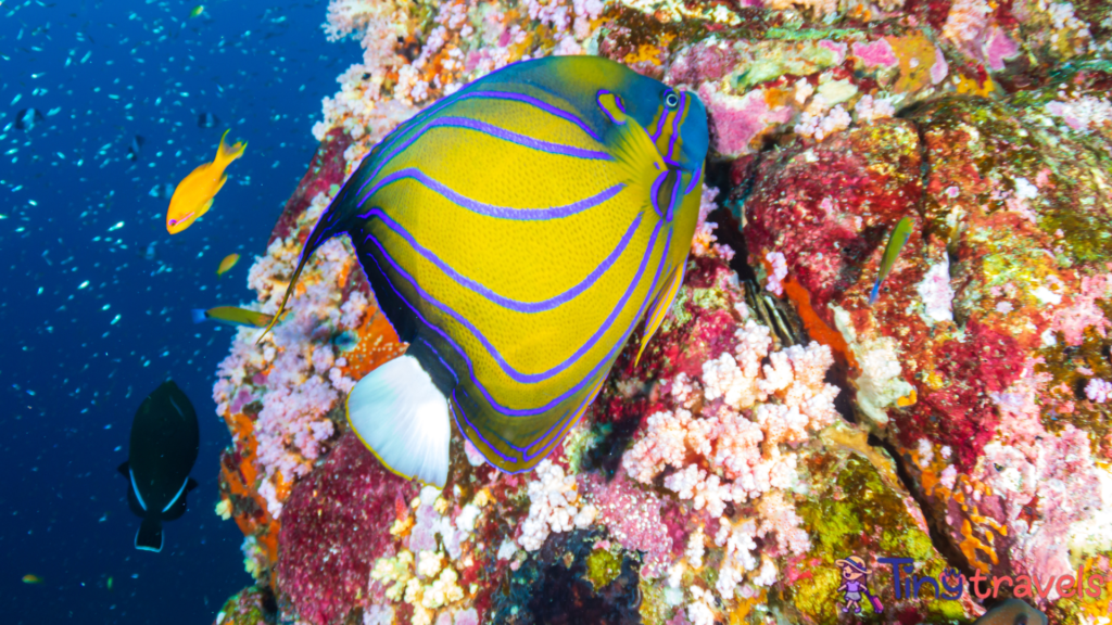
{"label": "large yellow angelfish with curved blue-purple stripes and white tail", "polygon": [[528,470],[638,325],[644,350],[664,319],[707,146],[697,97],[625,66],[508,66],[375,146],[309,235],[279,312],[314,250],[346,234],[409,344],[348,397],[364,444],[443,487],[454,418],[490,464]]}

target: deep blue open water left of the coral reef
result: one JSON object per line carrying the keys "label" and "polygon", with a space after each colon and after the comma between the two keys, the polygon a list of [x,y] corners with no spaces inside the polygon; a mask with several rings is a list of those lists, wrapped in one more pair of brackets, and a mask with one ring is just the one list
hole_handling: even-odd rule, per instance
{"label": "deep blue open water left of the coral reef", "polygon": [[[207,624],[251,584],[241,534],[214,513],[229,435],[211,387],[231,334],[189,311],[254,297],[247,271],[317,147],[320,99],[361,58],[326,41],[326,4],[206,1],[190,19],[197,2],[0,2],[3,623]],[[43,119],[22,131],[26,108]],[[198,127],[206,112],[214,128]],[[208,215],[170,237],[151,189],[210,161],[229,128],[244,158]],[[116,467],[168,378],[200,420],[200,487],[155,554],[132,546]]]}

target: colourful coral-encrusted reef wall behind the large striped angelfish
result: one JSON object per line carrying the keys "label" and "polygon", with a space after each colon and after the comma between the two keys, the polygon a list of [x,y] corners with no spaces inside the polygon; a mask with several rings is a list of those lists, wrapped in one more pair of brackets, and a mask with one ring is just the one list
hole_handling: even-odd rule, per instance
{"label": "colourful coral-encrusted reef wall behind the large striped angelfish", "polygon": [[[344,396],[405,346],[347,242],[325,246],[291,318],[259,345],[239,330],[218,369],[217,512],[267,588],[226,616],[970,623],[980,575],[1055,625],[1109,622],[1105,3],[332,0],[327,19],[364,58],[251,268],[258,310],[376,141],[514,61],[602,54],[696,91],[708,187],[639,361],[618,357],[536,472],[499,474],[454,435],[443,492],[347,433]],[[876,601],[847,616],[851,556]],[[1068,574],[1086,592],[1040,586]]]}

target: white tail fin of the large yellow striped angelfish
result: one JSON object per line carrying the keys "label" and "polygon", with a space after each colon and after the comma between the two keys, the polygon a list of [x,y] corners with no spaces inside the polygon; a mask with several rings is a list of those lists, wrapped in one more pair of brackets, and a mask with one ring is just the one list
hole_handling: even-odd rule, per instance
{"label": "white tail fin of the large yellow striped angelfish", "polygon": [[444,488],[451,417],[448,400],[413,356],[367,374],[348,395],[348,423],[386,468]]}

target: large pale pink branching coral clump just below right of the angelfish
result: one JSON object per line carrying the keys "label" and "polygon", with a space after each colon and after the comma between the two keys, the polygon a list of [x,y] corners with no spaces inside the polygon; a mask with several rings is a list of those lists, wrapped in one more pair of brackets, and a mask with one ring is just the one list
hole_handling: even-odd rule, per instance
{"label": "large pale pink branching coral clump just below right of the angelfish", "polygon": [[[728,502],[790,486],[795,459],[782,456],[780,444],[801,443],[808,429],[821,429],[837,416],[837,388],[823,383],[833,364],[830,348],[812,343],[770,355],[768,328],[752,319],[735,338],[735,355],[723,354],[703,366],[704,398],[721,399],[717,411],[703,418],[683,407],[656,413],[648,417],[645,436],[623,458],[629,475],[645,484],[667,466],[681,469],[665,478],[665,487],[713,516]],[[772,363],[762,369],[766,356]],[[688,399],[686,388],[684,378],[673,384],[679,406]],[[742,411],[771,397],[777,403],[758,405],[752,417]],[[688,464],[691,457],[698,462]]]}

